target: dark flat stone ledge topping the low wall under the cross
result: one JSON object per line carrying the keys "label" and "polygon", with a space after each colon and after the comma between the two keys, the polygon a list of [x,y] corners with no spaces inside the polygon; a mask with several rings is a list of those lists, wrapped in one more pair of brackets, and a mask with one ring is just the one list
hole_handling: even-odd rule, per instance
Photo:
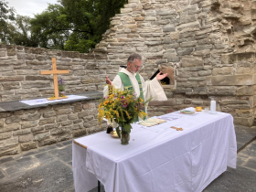
{"label": "dark flat stone ledge topping the low wall under the cross", "polygon": [[[0,102],[0,112],[15,112],[17,110],[34,109],[38,107],[46,107],[48,105],[69,103],[69,102],[75,102],[75,101],[97,100],[102,97],[103,93],[101,91],[88,91],[88,92],[73,93],[72,95],[86,96],[87,98],[77,99],[73,101],[51,102],[47,104],[40,104],[40,105],[33,105],[33,106],[27,105],[20,101],[5,101],[5,102]],[[40,98],[31,98],[31,100],[35,100],[35,99],[40,99]]]}

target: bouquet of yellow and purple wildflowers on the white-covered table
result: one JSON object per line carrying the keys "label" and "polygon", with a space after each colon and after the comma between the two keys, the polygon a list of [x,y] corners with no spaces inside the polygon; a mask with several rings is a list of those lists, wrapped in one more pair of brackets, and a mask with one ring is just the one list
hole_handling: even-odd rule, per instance
{"label": "bouquet of yellow and purple wildflowers on the white-covered table", "polygon": [[121,91],[112,87],[111,94],[103,97],[99,105],[98,121],[101,124],[101,121],[105,118],[110,124],[117,123],[116,132],[119,137],[121,136],[120,130],[122,127],[125,132],[131,133],[131,123],[137,122],[138,117],[144,119],[147,116],[144,110],[149,101],[136,98],[136,94],[131,91]]}

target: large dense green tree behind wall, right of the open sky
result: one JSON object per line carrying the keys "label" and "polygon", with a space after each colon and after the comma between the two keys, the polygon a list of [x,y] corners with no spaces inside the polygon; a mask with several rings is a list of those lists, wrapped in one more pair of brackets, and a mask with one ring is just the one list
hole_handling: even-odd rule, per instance
{"label": "large dense green tree behind wall, right of the open sky", "polygon": [[42,48],[89,52],[128,0],[59,0],[31,20]]}

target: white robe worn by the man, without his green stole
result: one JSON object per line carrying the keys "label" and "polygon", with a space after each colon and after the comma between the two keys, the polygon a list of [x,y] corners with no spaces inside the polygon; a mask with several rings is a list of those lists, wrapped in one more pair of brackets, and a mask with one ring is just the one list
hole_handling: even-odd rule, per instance
{"label": "white robe worn by the man, without his green stole", "polygon": [[[140,87],[139,83],[136,80],[136,73],[131,73],[126,69],[121,69],[120,72],[125,73],[129,76],[131,83],[133,85],[133,89],[136,93],[136,96],[140,96]],[[144,81],[144,78],[140,75],[142,85],[143,85],[143,91],[144,91],[144,101],[147,101],[149,99],[152,99],[152,101],[165,101],[167,100],[167,97],[165,95],[165,91],[163,90],[161,84],[154,78],[153,80],[146,80]],[[123,82],[119,75],[115,76],[115,78],[112,80],[113,86],[116,89],[123,90]],[[103,94],[104,96],[108,95],[108,86],[104,87]]]}

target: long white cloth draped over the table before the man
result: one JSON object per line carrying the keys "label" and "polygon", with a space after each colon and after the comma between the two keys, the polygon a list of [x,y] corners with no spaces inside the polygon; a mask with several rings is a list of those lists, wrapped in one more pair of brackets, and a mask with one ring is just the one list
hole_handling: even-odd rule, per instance
{"label": "long white cloth draped over the table before the man", "polygon": [[230,114],[181,115],[160,133],[133,124],[128,145],[105,132],[75,139],[88,147],[72,144],[76,192],[97,187],[97,179],[106,192],[200,192],[228,165],[236,168],[237,144]]}

